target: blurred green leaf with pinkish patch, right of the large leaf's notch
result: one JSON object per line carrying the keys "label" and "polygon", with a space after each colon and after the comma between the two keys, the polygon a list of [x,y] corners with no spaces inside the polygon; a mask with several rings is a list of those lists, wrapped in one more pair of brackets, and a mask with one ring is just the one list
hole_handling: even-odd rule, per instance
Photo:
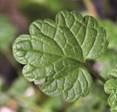
{"label": "blurred green leaf with pinkish patch, right of the large leaf's notch", "polygon": [[[113,68],[117,64],[117,52],[113,49],[108,49],[100,58],[98,58],[95,66],[98,66],[96,70],[99,74],[106,80],[110,77],[116,77],[114,74]],[[112,75],[113,74],[113,75]],[[115,75],[115,76],[114,76]]]}

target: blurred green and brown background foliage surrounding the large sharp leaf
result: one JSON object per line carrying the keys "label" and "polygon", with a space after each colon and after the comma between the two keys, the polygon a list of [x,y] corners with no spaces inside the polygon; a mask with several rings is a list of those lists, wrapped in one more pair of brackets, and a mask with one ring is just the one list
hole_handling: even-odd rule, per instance
{"label": "blurred green and brown background foliage surrounding the large sharp leaf", "polygon": [[52,18],[60,10],[77,10],[92,15],[105,27],[109,47],[88,66],[102,77],[109,78],[117,64],[117,0],[0,0],[0,112],[109,112],[103,84],[94,79],[87,97],[74,103],[43,94],[21,73],[22,66],[12,56],[12,43],[36,19]]}

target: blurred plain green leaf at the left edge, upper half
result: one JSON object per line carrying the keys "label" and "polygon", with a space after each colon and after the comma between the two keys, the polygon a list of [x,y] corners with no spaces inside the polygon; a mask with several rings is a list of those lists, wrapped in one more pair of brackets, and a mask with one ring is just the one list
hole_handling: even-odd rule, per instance
{"label": "blurred plain green leaf at the left edge, upper half", "polygon": [[16,28],[10,20],[3,15],[0,15],[0,49],[4,50],[9,47],[12,39],[16,34]]}

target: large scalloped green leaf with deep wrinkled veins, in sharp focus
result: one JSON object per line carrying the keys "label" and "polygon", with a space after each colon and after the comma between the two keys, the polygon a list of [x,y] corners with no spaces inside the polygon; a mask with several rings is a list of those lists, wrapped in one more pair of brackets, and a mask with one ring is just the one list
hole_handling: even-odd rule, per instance
{"label": "large scalloped green leaf with deep wrinkled veins, in sharp focus", "polygon": [[55,21],[33,22],[30,34],[16,39],[13,53],[25,65],[23,74],[29,81],[50,96],[72,102],[91,88],[85,60],[100,56],[108,42],[105,30],[93,17],[61,11]]}

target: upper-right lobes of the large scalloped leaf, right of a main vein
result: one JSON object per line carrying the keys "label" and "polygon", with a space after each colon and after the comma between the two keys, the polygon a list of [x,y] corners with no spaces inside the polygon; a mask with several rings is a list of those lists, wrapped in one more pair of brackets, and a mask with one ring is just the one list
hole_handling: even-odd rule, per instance
{"label": "upper-right lobes of the large scalloped leaf, right of a main vein", "polygon": [[56,21],[60,26],[66,26],[76,38],[82,48],[84,59],[95,59],[106,49],[106,32],[93,17],[82,17],[76,11],[61,11],[57,14]]}

